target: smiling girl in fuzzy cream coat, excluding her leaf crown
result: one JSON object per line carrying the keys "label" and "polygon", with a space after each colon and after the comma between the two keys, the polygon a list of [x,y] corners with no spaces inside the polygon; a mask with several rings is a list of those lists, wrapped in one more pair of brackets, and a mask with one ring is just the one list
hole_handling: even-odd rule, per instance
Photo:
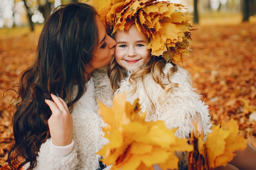
{"label": "smiling girl in fuzzy cream coat, excluding her leaf crown", "polygon": [[[204,134],[210,132],[207,106],[193,92],[190,76],[184,69],[166,63],[161,56],[152,57],[147,49],[148,37],[139,33],[135,24],[128,31],[118,30],[115,39],[115,59],[110,65],[112,88],[118,88],[115,93],[126,92],[131,103],[139,98],[142,111],[148,112],[148,121],[160,119],[168,128],[178,127],[179,137],[189,137],[192,120],[200,117],[199,128]],[[124,74],[116,69],[123,70]],[[119,84],[115,79],[118,73],[124,77],[127,74],[128,78]]]}

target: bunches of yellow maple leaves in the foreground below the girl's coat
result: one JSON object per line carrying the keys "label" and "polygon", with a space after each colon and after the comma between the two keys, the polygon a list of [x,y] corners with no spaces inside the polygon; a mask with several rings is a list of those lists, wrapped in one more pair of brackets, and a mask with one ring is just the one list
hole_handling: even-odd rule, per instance
{"label": "bunches of yellow maple leaves in the foreground below the girl's coat", "polygon": [[236,150],[247,147],[234,119],[213,125],[206,135],[195,125],[191,138],[182,139],[175,136],[177,128],[169,130],[160,120],[147,122],[146,112],[140,110],[138,99],[131,105],[125,93],[115,95],[111,108],[99,102],[99,113],[106,123],[104,137],[109,143],[98,154],[104,157],[103,163],[112,165],[111,170],[154,170],[156,164],[162,170],[178,169],[177,151],[188,152],[189,170],[211,170],[226,166]]}

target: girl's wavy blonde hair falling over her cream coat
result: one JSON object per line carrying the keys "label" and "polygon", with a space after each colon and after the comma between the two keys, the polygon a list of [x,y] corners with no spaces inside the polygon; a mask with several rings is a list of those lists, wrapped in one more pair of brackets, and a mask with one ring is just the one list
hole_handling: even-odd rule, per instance
{"label": "girl's wavy blonde hair falling over her cream coat", "polygon": [[[173,64],[173,63],[172,63]],[[129,83],[132,85],[132,93],[135,93],[137,90],[137,79],[141,77],[142,85],[144,86],[146,95],[148,96],[148,93],[146,91],[146,82],[145,78],[148,73],[151,73],[152,78],[154,81],[159,84],[163,89],[164,92],[162,95],[159,96],[159,103],[161,104],[164,96],[167,96],[167,94],[171,93],[173,90],[173,87],[178,87],[177,83],[171,82],[171,77],[177,72],[177,65],[173,64],[173,67],[167,72],[167,75],[164,75],[164,66],[166,65],[166,60],[164,60],[163,57],[150,57],[150,60],[148,63],[142,68],[137,69],[129,78]],[[113,89],[113,93],[117,91],[117,89],[120,87],[120,82],[126,78],[127,74],[119,64],[117,64],[117,61],[115,60],[115,57],[112,59],[109,65],[108,69],[108,77],[110,78],[110,84]],[[164,78],[167,77],[168,83],[164,83]],[[150,99],[150,97],[148,96]],[[151,100],[150,100],[151,101]],[[153,102],[151,101],[153,108],[155,108]],[[154,109],[155,110],[155,109]]]}

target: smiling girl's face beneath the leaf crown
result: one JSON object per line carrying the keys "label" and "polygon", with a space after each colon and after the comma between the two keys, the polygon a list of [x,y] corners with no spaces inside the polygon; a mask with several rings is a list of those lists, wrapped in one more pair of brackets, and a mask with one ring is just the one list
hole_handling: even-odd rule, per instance
{"label": "smiling girl's face beneath the leaf crown", "polygon": [[115,39],[116,61],[126,70],[135,71],[150,59],[151,53],[147,49],[148,37],[144,33],[139,33],[135,24],[132,24],[128,31],[117,31]]}

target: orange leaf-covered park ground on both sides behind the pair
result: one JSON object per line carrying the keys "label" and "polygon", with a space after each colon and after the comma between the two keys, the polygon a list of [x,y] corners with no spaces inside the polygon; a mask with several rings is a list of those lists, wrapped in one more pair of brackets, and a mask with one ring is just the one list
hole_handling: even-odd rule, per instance
{"label": "orange leaf-covered park ground on both sides behind the pair", "polygon": [[[202,16],[200,24],[193,24],[191,56],[179,65],[189,71],[193,87],[209,105],[213,124],[235,119],[240,135],[256,148],[256,19],[241,18]],[[12,107],[8,111],[14,93],[6,90],[33,63],[41,29],[0,29],[0,167],[7,165],[14,142]]]}

